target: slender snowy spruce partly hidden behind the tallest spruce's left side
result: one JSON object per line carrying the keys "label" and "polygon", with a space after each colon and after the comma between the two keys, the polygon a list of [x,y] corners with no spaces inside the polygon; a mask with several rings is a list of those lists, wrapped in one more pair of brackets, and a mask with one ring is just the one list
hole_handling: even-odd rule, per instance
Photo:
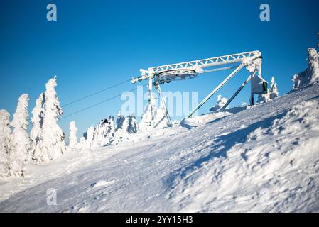
{"label": "slender snowy spruce partly hidden behind the tallest spruce's left side", "polygon": [[[44,106],[44,93],[41,93],[38,99],[36,99],[36,106],[32,110],[32,117],[31,122],[33,127],[30,131],[30,138],[31,138],[31,150],[32,153],[38,153],[39,145],[38,141],[40,138],[41,128],[43,125],[43,106]],[[32,156],[33,156],[32,154]]]}

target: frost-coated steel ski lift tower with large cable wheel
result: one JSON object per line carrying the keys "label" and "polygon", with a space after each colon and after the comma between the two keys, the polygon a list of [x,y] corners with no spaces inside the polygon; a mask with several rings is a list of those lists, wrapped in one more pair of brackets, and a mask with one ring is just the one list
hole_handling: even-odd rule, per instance
{"label": "frost-coated steel ski lift tower with large cable wheel", "polygon": [[[222,110],[230,104],[235,96],[244,88],[244,86],[251,80],[251,97],[250,104],[254,105],[254,94],[267,93],[267,82],[261,77],[261,52],[258,50],[252,52],[242,52],[234,55],[225,55],[220,57],[210,57],[202,60],[195,60],[191,62],[181,62],[172,65],[161,65],[150,67],[148,70],[141,69],[141,76],[132,78],[131,83],[141,82],[148,79],[149,99],[151,99],[151,92],[153,85],[158,88],[159,84],[170,83],[172,81],[182,81],[185,79],[193,79],[199,74],[207,72],[216,72],[221,70],[234,69],[215,89],[203,99],[193,111],[188,114],[188,118],[200,109],[205,102],[210,99],[220,88],[222,88],[232,77],[234,77],[243,67],[249,71],[249,77],[240,85],[239,89],[231,96]],[[161,90],[159,94],[161,96]],[[161,96],[161,99],[163,97]],[[168,116],[169,117],[169,116]]]}

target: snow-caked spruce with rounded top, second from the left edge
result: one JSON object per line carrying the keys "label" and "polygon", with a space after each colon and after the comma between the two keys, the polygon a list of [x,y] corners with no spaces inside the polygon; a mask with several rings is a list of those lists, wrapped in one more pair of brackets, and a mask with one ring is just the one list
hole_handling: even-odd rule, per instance
{"label": "snow-caked spruce with rounded top, second from the left edge", "polygon": [[16,112],[13,114],[11,126],[12,149],[9,153],[9,175],[25,175],[24,163],[28,159],[31,150],[31,140],[27,132],[28,128],[28,94],[22,94],[18,99]]}

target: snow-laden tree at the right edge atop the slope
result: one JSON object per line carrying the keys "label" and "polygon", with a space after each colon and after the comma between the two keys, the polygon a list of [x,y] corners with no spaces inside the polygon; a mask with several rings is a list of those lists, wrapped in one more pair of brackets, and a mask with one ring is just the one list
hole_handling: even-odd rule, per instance
{"label": "snow-laden tree at the right edge atop the slope", "polygon": [[319,54],[315,48],[308,48],[308,68],[303,72],[294,74],[292,81],[293,89],[319,81]]}

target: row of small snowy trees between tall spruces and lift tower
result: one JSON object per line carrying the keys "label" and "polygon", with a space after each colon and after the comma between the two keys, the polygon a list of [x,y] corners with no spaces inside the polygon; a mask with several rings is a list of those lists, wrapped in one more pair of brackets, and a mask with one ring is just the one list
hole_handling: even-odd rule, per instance
{"label": "row of small snowy trees between tall spruces and lift tower", "polygon": [[161,106],[156,106],[155,100],[151,96],[151,101],[146,107],[140,123],[138,123],[133,114],[125,117],[119,111],[115,122],[113,116],[102,119],[97,126],[87,128],[80,141],[77,141],[75,122],[71,121],[69,148],[83,150],[118,144],[129,140],[134,133],[144,133],[154,128],[165,128],[169,126],[169,123],[166,118],[166,108],[163,105],[165,105],[164,101],[161,103]]}

